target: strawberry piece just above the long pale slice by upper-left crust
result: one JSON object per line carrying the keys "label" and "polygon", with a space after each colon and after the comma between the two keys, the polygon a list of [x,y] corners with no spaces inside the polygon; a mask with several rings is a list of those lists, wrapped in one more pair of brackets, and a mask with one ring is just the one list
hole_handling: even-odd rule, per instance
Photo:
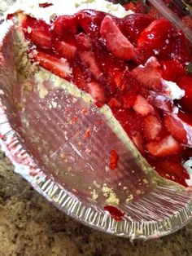
{"label": "strawberry piece just above the long pale slice by upper-left crust", "polygon": [[57,51],[63,58],[66,58],[67,60],[74,59],[76,54],[76,46],[72,46],[70,43],[64,42],[58,38],[55,39],[53,46],[55,51]]}

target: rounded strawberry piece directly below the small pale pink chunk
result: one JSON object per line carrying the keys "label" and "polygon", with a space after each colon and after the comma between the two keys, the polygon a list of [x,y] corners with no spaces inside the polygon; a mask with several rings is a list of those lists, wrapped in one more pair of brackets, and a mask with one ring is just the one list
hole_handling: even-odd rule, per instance
{"label": "rounded strawberry piece directly below the small pale pink chunk", "polygon": [[147,140],[156,139],[162,129],[162,124],[158,117],[148,116],[143,121],[143,131]]}

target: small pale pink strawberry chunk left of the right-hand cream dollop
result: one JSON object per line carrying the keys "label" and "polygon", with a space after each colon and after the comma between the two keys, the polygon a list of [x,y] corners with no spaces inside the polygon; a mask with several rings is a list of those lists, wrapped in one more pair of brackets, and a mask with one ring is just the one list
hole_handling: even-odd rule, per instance
{"label": "small pale pink strawberry chunk left of the right-hand cream dollop", "polygon": [[133,109],[142,116],[147,116],[154,111],[154,108],[142,97],[142,95],[137,95]]}

